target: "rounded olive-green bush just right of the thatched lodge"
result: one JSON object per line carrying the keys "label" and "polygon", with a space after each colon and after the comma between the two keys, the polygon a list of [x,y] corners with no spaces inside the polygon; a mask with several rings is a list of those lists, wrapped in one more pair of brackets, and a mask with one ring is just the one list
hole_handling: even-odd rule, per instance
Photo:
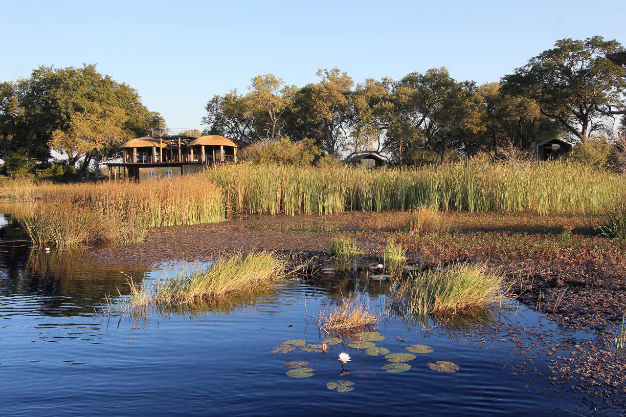
{"label": "rounded olive-green bush just right of the thatched lodge", "polygon": [[316,147],[313,139],[305,138],[292,143],[282,136],[272,142],[253,143],[241,151],[241,159],[252,163],[277,163],[279,165],[295,165],[304,167],[313,163],[316,155],[322,151]]}

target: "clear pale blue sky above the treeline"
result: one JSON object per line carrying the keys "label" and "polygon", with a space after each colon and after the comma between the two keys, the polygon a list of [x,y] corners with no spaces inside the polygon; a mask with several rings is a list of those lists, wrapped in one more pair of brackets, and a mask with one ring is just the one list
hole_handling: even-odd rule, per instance
{"label": "clear pale blue sky above the treeline", "polygon": [[170,128],[200,128],[213,95],[255,75],[355,81],[446,66],[498,81],[563,38],[626,45],[626,1],[0,0],[0,81],[40,65],[98,64],[138,90]]}

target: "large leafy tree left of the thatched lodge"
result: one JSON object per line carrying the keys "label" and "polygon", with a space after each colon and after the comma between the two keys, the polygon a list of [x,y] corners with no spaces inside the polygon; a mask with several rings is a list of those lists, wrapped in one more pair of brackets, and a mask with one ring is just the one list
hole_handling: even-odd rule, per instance
{"label": "large leafy tree left of the thatched lodge", "polygon": [[[111,115],[117,115],[116,120],[128,135],[143,136],[151,128],[164,126],[158,113],[148,111],[141,104],[136,90],[117,83],[108,75],[101,75],[95,65],[85,64],[81,68],[41,66],[29,78],[12,85],[15,97],[12,106],[16,110],[11,117],[3,111],[0,131],[12,132],[14,152],[19,150],[26,157],[45,164],[50,157],[50,143],[55,131],[71,135],[76,123],[86,123],[96,114],[106,115],[109,119]],[[3,86],[8,88],[7,83]],[[4,92],[2,94],[4,96]],[[95,108],[99,110],[95,111]],[[91,123],[96,121],[91,120]],[[83,155],[89,154],[83,152]]]}

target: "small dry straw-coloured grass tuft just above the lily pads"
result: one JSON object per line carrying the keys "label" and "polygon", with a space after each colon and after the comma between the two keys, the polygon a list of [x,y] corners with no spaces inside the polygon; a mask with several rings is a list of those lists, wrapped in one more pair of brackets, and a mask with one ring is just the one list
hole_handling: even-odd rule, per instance
{"label": "small dry straw-coloured grass tuft just above the lily pads", "polygon": [[354,301],[350,294],[341,305],[329,311],[321,311],[317,317],[317,326],[328,333],[341,333],[353,329],[371,328],[379,317],[362,300]]}

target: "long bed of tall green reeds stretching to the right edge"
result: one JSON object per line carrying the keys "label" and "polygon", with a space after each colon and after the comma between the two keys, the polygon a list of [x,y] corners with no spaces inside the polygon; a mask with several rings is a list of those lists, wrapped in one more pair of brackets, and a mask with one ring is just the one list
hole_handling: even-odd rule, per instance
{"label": "long bed of tall green reeds stretching to the right edge", "polygon": [[234,165],[206,177],[229,210],[259,214],[333,214],[429,206],[469,212],[596,213],[625,191],[623,178],[574,162],[513,167],[475,158],[423,168],[326,170]]}

